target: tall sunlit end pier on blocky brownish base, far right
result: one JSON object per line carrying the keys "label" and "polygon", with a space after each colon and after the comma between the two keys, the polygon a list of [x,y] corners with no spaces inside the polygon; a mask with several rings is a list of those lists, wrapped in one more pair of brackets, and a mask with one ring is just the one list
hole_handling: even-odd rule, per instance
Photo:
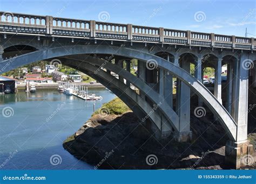
{"label": "tall sunlit end pier on blocky brownish base, far right", "polygon": [[242,67],[246,59],[247,54],[242,54],[234,63],[232,117],[237,122],[237,137],[235,142],[228,141],[225,149],[226,164],[232,168],[251,164],[247,159],[253,153],[253,146],[247,140],[248,69]]}

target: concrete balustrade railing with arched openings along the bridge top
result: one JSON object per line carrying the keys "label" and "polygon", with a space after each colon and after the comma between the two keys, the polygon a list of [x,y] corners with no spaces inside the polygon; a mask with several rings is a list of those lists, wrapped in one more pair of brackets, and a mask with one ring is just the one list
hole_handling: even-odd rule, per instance
{"label": "concrete balustrade railing with arched openings along the bridge top", "polygon": [[0,15],[1,33],[256,49],[255,38],[10,12]]}

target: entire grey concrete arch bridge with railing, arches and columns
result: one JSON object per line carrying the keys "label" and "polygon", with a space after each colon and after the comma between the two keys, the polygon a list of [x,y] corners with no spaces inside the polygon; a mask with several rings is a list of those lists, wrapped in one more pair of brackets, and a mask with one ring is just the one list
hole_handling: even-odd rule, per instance
{"label": "entire grey concrete arch bridge with railing, arches and columns", "polygon": [[[0,74],[39,60],[77,68],[117,94],[147,121],[157,138],[173,135],[177,141],[190,141],[192,136],[193,91],[198,95],[199,110],[204,103],[230,138],[226,161],[239,168],[241,155],[251,153],[247,115],[248,90],[256,87],[255,38],[0,13]],[[137,75],[130,71],[132,59],[138,60]],[[223,65],[227,65],[226,94],[221,94]],[[203,85],[206,67],[215,69],[213,93]],[[177,77],[176,105],[173,76]]]}

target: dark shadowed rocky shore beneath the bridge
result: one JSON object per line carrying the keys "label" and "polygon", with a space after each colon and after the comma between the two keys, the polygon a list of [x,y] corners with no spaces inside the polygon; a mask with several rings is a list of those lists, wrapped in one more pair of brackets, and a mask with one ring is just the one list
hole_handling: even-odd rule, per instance
{"label": "dark shadowed rocky shore beneath the bridge", "polygon": [[[113,101],[103,104],[102,108],[112,108],[112,105]],[[199,122],[191,117],[193,141],[178,143],[171,136],[156,140],[146,130],[146,124],[131,111],[118,115],[110,113],[104,117],[95,113],[64,140],[63,147],[95,169],[226,169],[228,137],[223,136],[225,130],[218,122],[211,126],[212,119],[213,116],[209,115]],[[106,158],[109,153],[111,155]],[[147,162],[150,155],[157,160],[156,163]]]}

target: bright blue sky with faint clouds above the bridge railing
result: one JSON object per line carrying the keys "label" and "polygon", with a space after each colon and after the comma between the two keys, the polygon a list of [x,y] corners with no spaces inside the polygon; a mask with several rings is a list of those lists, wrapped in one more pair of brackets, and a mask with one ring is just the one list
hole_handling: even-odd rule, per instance
{"label": "bright blue sky with faint clouds above the bridge railing", "polygon": [[[1,11],[256,37],[255,0],[1,0]],[[107,13],[106,13],[107,12]]]}

